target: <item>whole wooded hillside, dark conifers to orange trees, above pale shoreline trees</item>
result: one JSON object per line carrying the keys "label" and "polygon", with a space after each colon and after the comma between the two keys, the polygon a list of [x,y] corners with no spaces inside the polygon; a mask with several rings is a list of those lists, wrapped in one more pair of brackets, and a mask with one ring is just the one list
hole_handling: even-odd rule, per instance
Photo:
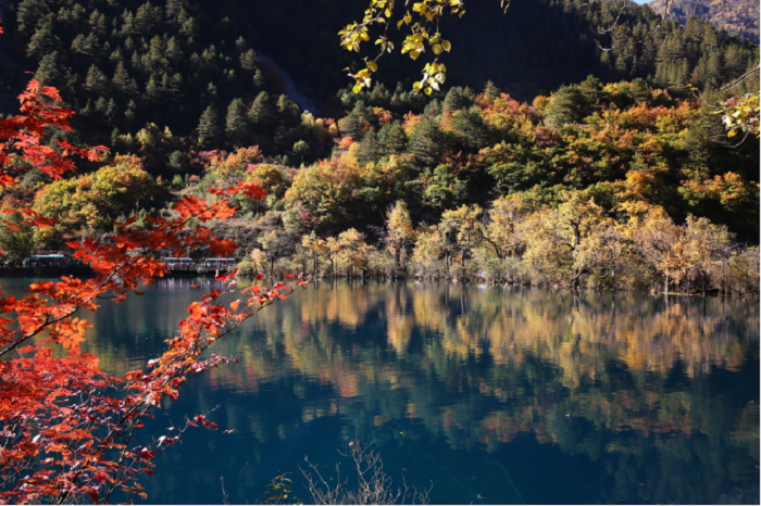
{"label": "whole wooded hillside, dark conifers to orange trees, above pale shoreline trees", "polygon": [[[410,91],[420,65],[392,54],[380,83],[355,94],[345,67],[362,55],[341,51],[337,37],[361,15],[355,0],[151,1],[7,5],[0,41],[77,112],[74,131],[51,131],[50,142],[105,144],[114,155],[83,164],[77,179],[33,172],[3,194],[8,205],[66,216],[35,236],[38,245],[230,178],[270,191],[242,202],[246,223],[321,235],[371,232],[398,200],[435,224],[462,205],[516,193],[559,205],[577,192],[612,216],[658,206],[758,241],[758,144],[731,148],[690,85],[714,101],[758,64],[759,48],[708,21],[666,22],[668,38],[648,37],[659,16],[632,3],[613,35],[600,35],[620,3],[536,0],[503,15],[497,2],[477,2],[441,26],[453,48],[442,92]],[[12,79],[0,83],[13,91]],[[120,202],[92,190],[125,185]],[[241,243],[258,240],[252,231]]]}

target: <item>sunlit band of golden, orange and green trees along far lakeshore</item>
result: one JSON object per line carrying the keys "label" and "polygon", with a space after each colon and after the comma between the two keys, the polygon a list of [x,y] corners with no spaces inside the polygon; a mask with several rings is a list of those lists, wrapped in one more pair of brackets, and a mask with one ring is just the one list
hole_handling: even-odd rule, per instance
{"label": "sunlit band of golden, orange and green trees along far lakeshore", "polygon": [[[174,195],[213,199],[210,189],[258,181],[265,200],[236,197],[242,215],[212,224],[244,246],[241,275],[758,294],[758,146],[727,146],[697,100],[589,77],[531,104],[490,84],[478,94],[454,87],[401,115],[373,93],[345,92],[338,122],[303,113],[291,128],[334,147],[299,167],[259,146],[199,150],[187,165],[198,174],[164,179],[150,153],[186,141],[152,127],[137,153],[76,178],[32,172],[5,202],[55,224],[0,241],[21,258],[104,233],[113,217],[170,216]],[[226,126],[251,124],[230,105]]]}

